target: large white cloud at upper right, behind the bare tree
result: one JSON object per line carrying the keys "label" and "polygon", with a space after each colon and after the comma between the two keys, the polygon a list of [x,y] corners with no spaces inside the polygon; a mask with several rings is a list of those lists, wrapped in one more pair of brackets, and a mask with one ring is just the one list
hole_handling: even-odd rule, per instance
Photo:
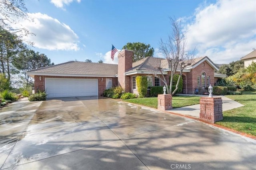
{"label": "large white cloud at upper right, behind the bare tree", "polygon": [[198,7],[194,20],[185,26],[188,48],[196,47],[198,56],[207,55],[219,64],[247,55],[256,48],[255,9],[253,0],[222,0]]}

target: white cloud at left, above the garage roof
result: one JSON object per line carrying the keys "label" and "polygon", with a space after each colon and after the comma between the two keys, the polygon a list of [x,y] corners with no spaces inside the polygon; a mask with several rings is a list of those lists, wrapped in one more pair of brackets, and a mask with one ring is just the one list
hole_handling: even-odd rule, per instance
{"label": "white cloud at left, above the garage roof", "polygon": [[[36,36],[28,35],[26,41],[34,42],[34,47],[48,50],[79,50],[78,35],[65,23],[41,13],[28,13],[34,22],[20,20],[20,25]],[[12,25],[19,28],[20,25]]]}

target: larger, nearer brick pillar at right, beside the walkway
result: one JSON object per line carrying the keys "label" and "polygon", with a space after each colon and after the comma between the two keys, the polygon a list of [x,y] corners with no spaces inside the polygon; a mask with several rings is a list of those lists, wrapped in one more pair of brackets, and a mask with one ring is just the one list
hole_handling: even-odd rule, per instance
{"label": "larger, nearer brick pillar at right, beside the walkway", "polygon": [[223,119],[221,98],[200,98],[200,118],[215,123]]}

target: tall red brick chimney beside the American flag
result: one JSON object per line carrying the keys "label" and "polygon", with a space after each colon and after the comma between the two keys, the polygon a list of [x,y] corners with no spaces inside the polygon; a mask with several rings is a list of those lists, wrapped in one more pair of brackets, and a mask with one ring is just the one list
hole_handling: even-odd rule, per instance
{"label": "tall red brick chimney beside the American flag", "polygon": [[124,73],[132,69],[132,55],[131,50],[122,50],[118,54],[118,86],[121,86],[125,92],[130,92],[130,76],[125,76]]}

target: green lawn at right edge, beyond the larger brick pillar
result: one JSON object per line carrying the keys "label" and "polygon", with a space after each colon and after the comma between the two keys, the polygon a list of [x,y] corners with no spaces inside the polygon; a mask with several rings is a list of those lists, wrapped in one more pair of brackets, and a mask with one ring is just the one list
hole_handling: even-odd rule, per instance
{"label": "green lawn at right edge, beyond the larger brick pillar", "polygon": [[243,92],[242,95],[228,95],[243,107],[223,112],[223,120],[218,125],[256,136],[256,92]]}

